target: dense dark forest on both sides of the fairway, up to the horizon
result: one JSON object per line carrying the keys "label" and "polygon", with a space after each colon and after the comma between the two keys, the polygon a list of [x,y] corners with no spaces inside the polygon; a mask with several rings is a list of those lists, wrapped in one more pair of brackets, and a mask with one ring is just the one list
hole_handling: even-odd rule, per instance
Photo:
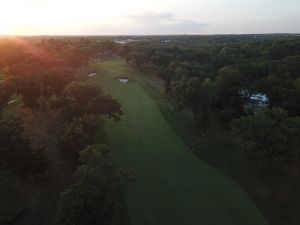
{"label": "dense dark forest on both sides of the fairway, up to the horizon", "polygon": [[283,173],[274,199],[300,209],[300,37],[1,38],[0,224],[128,223],[135,174],[117,167],[101,132],[122,119],[122,106],[80,77],[119,57],[162,80],[168,104],[200,138],[218,124],[251,167]]}

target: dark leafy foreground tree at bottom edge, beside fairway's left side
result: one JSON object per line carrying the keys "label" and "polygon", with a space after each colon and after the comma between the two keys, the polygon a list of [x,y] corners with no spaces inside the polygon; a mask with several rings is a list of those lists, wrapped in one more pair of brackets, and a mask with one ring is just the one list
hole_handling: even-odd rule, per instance
{"label": "dark leafy foreground tree at bottom edge, beside fairway's left side", "polygon": [[121,175],[112,151],[105,145],[91,145],[81,152],[78,182],[60,197],[57,220],[61,225],[121,225]]}

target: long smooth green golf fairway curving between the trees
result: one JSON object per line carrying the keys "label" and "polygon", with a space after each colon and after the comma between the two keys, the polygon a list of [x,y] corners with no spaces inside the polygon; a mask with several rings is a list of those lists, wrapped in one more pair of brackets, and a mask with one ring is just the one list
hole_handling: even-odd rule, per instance
{"label": "long smooth green golf fairway curving between the trees", "polygon": [[100,84],[121,104],[121,122],[105,131],[121,168],[133,168],[127,189],[132,225],[261,225],[264,216],[233,180],[189,152],[156,103],[139,83],[122,84],[115,76],[134,76],[123,61],[107,61]]}

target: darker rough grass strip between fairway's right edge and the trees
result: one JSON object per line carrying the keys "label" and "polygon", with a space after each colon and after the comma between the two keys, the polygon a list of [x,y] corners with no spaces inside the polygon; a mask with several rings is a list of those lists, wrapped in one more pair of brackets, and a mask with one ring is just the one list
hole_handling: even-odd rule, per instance
{"label": "darker rough grass strip between fairway's right edge and the trees", "polygon": [[[290,182],[285,174],[274,168],[266,170],[258,168],[253,160],[245,157],[241,150],[241,143],[238,143],[231,132],[220,125],[215,118],[212,118],[212,125],[208,129],[196,129],[189,117],[174,110],[162,88],[153,85],[155,79],[152,76],[155,74],[141,73],[138,80],[143,89],[156,101],[165,119],[189,149],[238,182],[255,200],[271,224],[297,224],[295,222],[297,219],[291,218],[292,213],[288,215],[291,210],[296,209],[276,202],[274,196],[277,190],[273,185],[285,186]],[[291,183],[288,185],[293,186]],[[296,202],[295,200],[293,205]]]}

